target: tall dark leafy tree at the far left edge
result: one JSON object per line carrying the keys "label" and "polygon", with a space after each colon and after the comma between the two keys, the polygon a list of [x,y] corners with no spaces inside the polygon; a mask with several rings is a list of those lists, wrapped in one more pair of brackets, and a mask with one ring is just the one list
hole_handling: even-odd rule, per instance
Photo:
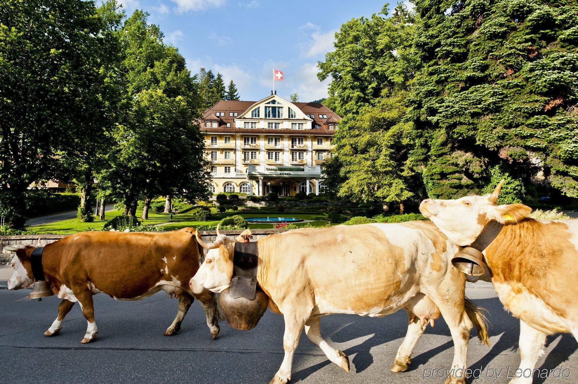
{"label": "tall dark leafy tree at the far left edge", "polygon": [[93,2],[5,0],[0,15],[0,206],[23,228],[28,186],[65,178],[79,135],[109,124],[114,52]]}

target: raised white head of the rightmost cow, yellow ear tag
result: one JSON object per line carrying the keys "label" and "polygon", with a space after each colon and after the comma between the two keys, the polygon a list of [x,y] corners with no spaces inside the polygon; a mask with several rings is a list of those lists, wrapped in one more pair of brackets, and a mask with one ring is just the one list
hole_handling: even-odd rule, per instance
{"label": "raised white head of the rightmost cow, yellow ear tag", "polygon": [[424,200],[420,204],[420,211],[451,241],[465,247],[476,240],[491,220],[502,224],[516,223],[532,212],[532,208],[524,204],[497,205],[503,182],[490,195],[466,196],[455,200]]}

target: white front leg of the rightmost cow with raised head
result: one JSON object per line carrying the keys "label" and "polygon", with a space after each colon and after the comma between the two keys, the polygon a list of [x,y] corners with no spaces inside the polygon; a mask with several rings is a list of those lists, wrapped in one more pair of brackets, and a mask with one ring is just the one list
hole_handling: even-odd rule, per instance
{"label": "white front leg of the rightmost cow with raised head", "polygon": [[[539,330],[533,329],[531,326],[520,320],[520,370],[524,373],[526,370],[533,372],[538,359],[544,353],[544,343],[546,342],[546,334]],[[533,376],[514,378],[510,384],[530,384]]]}

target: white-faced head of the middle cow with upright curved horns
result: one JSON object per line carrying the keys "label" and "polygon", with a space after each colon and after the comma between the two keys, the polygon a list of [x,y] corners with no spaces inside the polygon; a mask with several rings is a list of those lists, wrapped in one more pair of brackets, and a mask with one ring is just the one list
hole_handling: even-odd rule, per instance
{"label": "white-faced head of the middle cow with upright curved horns", "polygon": [[235,243],[246,243],[252,237],[251,231],[246,229],[235,240],[231,240],[221,234],[217,226],[217,238],[213,244],[208,245],[201,240],[201,236],[197,232],[197,241],[209,251],[201,267],[189,282],[192,292],[200,294],[205,289],[212,292],[222,292],[229,288],[233,278]]}

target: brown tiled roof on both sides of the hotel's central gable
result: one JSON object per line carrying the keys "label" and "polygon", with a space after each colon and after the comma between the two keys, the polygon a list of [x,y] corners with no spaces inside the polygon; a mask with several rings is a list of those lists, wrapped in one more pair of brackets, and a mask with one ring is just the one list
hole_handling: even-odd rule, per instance
{"label": "brown tiled roof on both sides of the hotel's central gable", "polygon": [[[217,120],[219,121],[219,126],[223,128],[227,128],[227,123],[231,124],[231,126],[235,125],[235,116],[229,116],[229,113],[237,113],[239,117],[244,111],[249,109],[253,104],[257,103],[256,101],[240,101],[240,100],[220,100],[214,106],[210,107],[209,109],[203,111],[202,120]],[[324,106],[321,103],[293,103],[297,106],[303,113],[306,115],[314,115],[312,127],[314,125],[318,125],[320,129],[315,129],[314,131],[319,132],[327,129],[327,121],[331,120],[331,122],[339,122],[341,117],[336,114],[334,111],[329,109],[328,107]],[[216,112],[224,112],[224,116],[217,117],[215,115]],[[320,114],[326,114],[327,118],[320,118]],[[203,129],[204,130],[204,129]],[[267,131],[269,132],[269,131]]]}

